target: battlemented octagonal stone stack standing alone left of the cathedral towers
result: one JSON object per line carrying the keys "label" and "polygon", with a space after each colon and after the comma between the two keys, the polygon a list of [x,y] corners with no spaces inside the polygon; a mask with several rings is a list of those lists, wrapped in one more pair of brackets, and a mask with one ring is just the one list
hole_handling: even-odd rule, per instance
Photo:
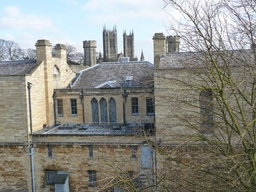
{"label": "battlemented octagonal stone stack standing alone left of the cathedral towers", "polygon": [[83,50],[84,50],[84,66],[94,66],[97,63],[96,60],[96,40],[84,40],[83,41]]}

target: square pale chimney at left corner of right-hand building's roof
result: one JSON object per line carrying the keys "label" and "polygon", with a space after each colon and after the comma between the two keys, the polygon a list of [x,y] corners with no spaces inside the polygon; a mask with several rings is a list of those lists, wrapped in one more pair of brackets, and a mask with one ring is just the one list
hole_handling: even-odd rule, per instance
{"label": "square pale chimney at left corner of right-hand building's roof", "polygon": [[153,36],[154,41],[154,65],[155,68],[159,67],[160,58],[165,57],[167,51],[167,41],[163,33],[155,33]]}

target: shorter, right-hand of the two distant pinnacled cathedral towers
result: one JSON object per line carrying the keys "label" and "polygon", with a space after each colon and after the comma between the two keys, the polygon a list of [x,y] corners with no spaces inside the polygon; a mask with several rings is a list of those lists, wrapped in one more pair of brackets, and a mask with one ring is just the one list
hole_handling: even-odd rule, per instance
{"label": "shorter, right-hand of the two distant pinnacled cathedral towers", "polygon": [[130,31],[130,35],[126,35],[126,31],[123,32],[123,54],[124,57],[134,57],[134,33]]}

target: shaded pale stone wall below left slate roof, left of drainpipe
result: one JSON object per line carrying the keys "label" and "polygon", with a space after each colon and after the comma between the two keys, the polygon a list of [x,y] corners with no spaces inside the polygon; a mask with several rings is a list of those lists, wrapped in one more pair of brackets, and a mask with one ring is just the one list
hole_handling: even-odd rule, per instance
{"label": "shaded pale stone wall below left slate roof, left of drainpipe", "polygon": [[0,142],[27,142],[27,84],[23,76],[0,77]]}

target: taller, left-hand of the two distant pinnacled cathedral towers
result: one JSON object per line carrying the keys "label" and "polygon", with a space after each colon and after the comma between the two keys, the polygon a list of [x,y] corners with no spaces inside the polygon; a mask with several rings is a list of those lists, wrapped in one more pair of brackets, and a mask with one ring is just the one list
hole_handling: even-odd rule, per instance
{"label": "taller, left-hand of the two distant pinnacled cathedral towers", "polygon": [[117,60],[117,31],[116,26],[113,30],[106,30],[103,27],[103,61],[116,61]]}

